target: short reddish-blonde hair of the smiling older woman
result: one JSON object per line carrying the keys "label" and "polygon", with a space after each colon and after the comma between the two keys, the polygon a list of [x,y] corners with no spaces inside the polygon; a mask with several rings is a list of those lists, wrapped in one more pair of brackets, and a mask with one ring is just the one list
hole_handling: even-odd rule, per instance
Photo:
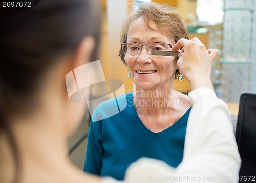
{"label": "short reddish-blonde hair of the smiling older woman", "polygon": [[[143,17],[147,27],[152,30],[154,29],[150,26],[150,22],[154,22],[157,27],[169,34],[170,37],[173,37],[175,43],[181,38],[188,39],[186,25],[175,7],[157,3],[139,3],[137,5],[138,8],[124,20],[121,31],[121,43],[127,42],[130,25],[139,17]],[[125,54],[122,51],[122,47],[120,47],[119,56],[125,64]]]}

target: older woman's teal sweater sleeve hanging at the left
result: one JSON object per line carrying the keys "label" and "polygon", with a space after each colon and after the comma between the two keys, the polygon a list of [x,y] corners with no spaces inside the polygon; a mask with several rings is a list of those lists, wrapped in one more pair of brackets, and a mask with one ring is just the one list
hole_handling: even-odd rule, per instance
{"label": "older woman's teal sweater sleeve hanging at the left", "polygon": [[85,172],[95,175],[101,174],[102,157],[104,153],[101,140],[101,124],[102,121],[91,121],[90,123],[86,149],[86,160],[83,169]]}

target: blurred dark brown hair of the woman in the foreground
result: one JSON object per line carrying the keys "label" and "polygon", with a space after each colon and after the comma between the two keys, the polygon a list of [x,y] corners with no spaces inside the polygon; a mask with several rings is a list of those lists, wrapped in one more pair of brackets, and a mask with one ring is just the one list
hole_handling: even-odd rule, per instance
{"label": "blurred dark brown hair of the woman in the foreground", "polygon": [[9,116],[33,108],[46,71],[61,57],[72,56],[85,36],[95,38],[91,61],[98,59],[101,15],[94,0],[42,0],[21,13],[1,14],[0,20],[0,132],[8,137],[18,167]]}

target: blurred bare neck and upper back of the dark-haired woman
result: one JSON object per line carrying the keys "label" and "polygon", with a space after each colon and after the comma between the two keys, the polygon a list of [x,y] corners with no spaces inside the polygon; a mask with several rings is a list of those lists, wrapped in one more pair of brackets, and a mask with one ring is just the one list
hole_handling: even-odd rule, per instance
{"label": "blurred bare neck and upper back of the dark-haired woman", "polygon": [[[69,161],[63,121],[54,114],[56,110],[47,111],[12,123],[22,160],[19,182],[100,182],[99,178],[84,174]],[[3,176],[0,173],[0,182],[12,182],[15,164],[4,134],[0,136],[0,149],[5,149],[0,152],[0,170],[5,172]]]}

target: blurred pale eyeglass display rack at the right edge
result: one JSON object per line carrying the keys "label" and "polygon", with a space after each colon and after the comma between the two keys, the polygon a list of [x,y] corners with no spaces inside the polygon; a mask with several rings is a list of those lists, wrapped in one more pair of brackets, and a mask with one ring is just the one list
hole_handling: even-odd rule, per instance
{"label": "blurred pale eyeglass display rack at the right edge", "polygon": [[225,0],[220,86],[216,94],[239,102],[245,92],[256,93],[256,2]]}

